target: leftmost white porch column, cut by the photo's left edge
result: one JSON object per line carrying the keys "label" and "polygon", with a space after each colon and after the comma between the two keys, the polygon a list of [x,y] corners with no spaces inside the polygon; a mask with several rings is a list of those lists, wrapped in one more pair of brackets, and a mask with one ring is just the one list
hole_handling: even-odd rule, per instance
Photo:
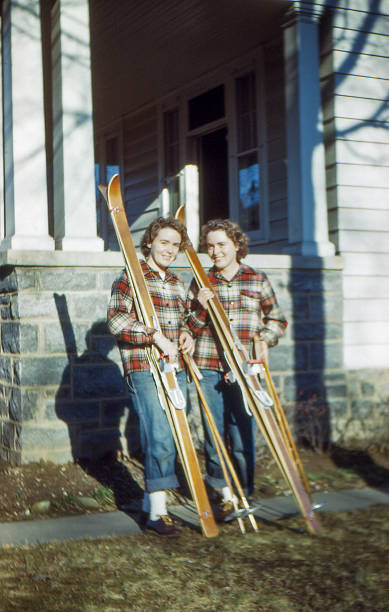
{"label": "leftmost white porch column, cut by the photo's left edge", "polygon": [[5,0],[2,31],[5,193],[0,249],[53,250],[39,0]]}

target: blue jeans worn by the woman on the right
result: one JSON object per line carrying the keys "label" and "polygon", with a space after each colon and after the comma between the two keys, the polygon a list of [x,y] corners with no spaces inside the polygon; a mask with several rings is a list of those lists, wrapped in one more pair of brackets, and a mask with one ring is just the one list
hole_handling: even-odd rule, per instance
{"label": "blue jeans worn by the woman on the right", "polygon": [[[246,495],[251,495],[255,470],[254,418],[246,412],[238,383],[227,382],[221,372],[213,370],[201,370],[201,374],[201,388],[216,427],[227,449],[228,446],[231,448],[231,458]],[[221,488],[226,486],[226,482],[204,417],[203,424],[206,480],[212,487]]]}

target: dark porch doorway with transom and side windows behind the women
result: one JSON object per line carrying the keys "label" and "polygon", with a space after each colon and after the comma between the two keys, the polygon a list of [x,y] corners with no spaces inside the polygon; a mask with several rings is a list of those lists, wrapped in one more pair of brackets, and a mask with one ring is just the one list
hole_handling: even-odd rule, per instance
{"label": "dark porch doorway with transom and side windows behind the women", "polygon": [[237,221],[252,244],[266,239],[261,57],[236,60],[160,106],[162,214],[185,204],[194,243],[216,216]]}

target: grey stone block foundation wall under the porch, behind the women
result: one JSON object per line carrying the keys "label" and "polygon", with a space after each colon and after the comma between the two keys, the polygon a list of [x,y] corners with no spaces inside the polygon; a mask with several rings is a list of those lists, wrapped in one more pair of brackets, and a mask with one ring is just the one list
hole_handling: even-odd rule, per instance
{"label": "grey stone block foundation wall under the porch, behind the women", "polygon": [[[270,353],[281,403],[295,435],[317,446],[389,436],[388,372],[343,370],[342,270],[339,258],[330,259],[248,258],[268,273],[289,320]],[[35,263],[24,255],[0,267],[2,459],[96,458],[127,452],[128,437],[129,452],[137,451],[119,352],[105,325],[121,267],[119,253],[55,253],[50,261],[36,256]],[[175,270],[188,285],[192,274],[182,256]],[[190,398],[200,445],[193,388]]]}

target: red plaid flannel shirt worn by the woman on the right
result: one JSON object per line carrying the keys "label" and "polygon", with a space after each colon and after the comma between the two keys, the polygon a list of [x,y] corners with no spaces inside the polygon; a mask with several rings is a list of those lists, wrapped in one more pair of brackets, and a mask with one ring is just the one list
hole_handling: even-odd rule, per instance
{"label": "red plaid flannel shirt worn by the woman on the right", "polygon": [[[209,270],[208,277],[219,295],[231,327],[249,354],[255,334],[269,346],[277,344],[288,322],[278,306],[265,272],[257,272],[241,264],[230,281],[217,272],[215,267]],[[216,342],[208,312],[196,299],[197,292],[197,283],[193,279],[187,296],[186,322],[196,336],[194,359],[200,368],[226,372],[229,367],[223,357],[223,350]]]}

